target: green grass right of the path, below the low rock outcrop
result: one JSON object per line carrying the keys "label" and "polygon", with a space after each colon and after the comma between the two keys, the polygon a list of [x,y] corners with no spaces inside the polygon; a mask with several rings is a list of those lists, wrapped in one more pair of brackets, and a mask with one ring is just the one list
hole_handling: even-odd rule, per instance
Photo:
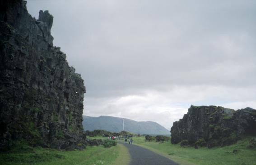
{"label": "green grass right of the path, below the low rock outcrop", "polygon": [[[249,138],[227,147],[180,147],[165,142],[145,142],[144,137],[135,137],[134,143],[166,156],[181,165],[256,165],[256,150],[247,149]],[[237,149],[237,153],[233,150]]]}

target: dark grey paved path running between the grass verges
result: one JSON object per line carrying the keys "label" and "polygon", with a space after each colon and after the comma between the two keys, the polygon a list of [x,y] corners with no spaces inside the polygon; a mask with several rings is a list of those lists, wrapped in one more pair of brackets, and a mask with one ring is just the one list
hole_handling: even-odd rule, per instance
{"label": "dark grey paved path running between the grass verges", "polygon": [[134,144],[124,144],[130,152],[130,165],[179,165],[170,159],[158,155],[146,148]]}

